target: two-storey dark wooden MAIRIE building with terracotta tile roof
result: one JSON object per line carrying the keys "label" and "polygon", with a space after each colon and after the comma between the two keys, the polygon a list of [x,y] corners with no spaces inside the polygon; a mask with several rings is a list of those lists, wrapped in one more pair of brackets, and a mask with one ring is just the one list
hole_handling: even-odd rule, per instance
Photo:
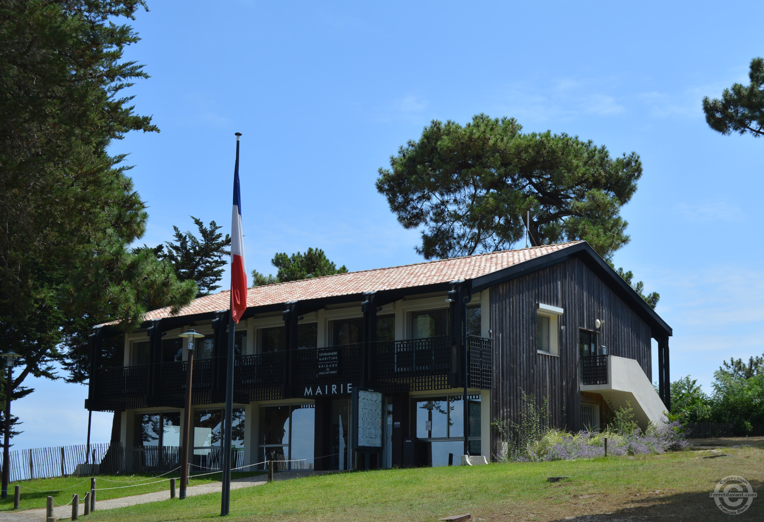
{"label": "two-storey dark wooden MAIRIE building with terracotta tile roof", "polygon": [[[192,462],[219,466],[228,300],[151,311],[128,334],[94,328],[86,408],[115,412],[113,441],[141,455],[132,465],[177,454],[187,357],[178,334],[191,327],[205,335]],[[235,330],[239,466],[458,464],[465,450],[500,450],[490,423],[519,420],[523,393],[568,430],[597,429],[626,401],[646,427],[669,401],[671,328],[585,242],[254,287],[248,304]],[[354,390],[380,397],[376,427],[359,424]],[[356,451],[361,430],[379,442],[371,456]]]}

